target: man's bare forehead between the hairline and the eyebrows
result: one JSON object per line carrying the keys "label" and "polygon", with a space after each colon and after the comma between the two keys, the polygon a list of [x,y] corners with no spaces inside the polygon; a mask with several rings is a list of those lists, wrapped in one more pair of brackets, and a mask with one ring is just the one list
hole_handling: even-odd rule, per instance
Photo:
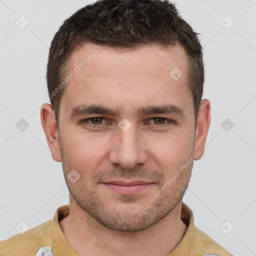
{"label": "man's bare forehead between the hairline and the eyebrows", "polygon": [[67,75],[75,75],[62,95],[66,109],[86,102],[134,105],[153,97],[155,103],[164,98],[177,103],[180,97],[184,102],[186,96],[191,97],[188,58],[178,43],[132,49],[87,43],[71,53],[67,66]]}

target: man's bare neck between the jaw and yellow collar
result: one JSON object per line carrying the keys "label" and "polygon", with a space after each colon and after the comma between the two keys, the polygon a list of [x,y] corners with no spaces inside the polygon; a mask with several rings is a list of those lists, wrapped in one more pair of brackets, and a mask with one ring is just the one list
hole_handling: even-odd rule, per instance
{"label": "man's bare neck between the jaw and yellow collar", "polygon": [[81,256],[166,256],[178,245],[187,229],[180,219],[182,201],[165,218],[138,232],[111,230],[80,209],[71,196],[69,201],[69,215],[59,221],[59,226]]}

